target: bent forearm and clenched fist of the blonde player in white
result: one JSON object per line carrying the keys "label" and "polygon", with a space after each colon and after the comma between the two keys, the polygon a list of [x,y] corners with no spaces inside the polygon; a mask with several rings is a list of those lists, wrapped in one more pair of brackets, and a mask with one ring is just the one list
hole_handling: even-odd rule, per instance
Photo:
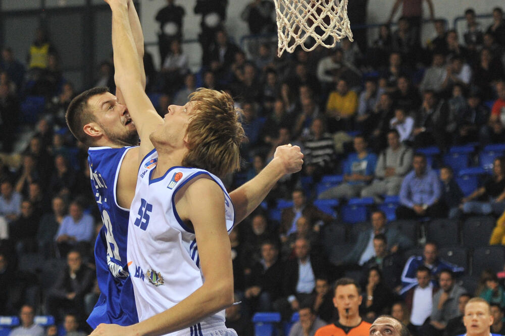
{"label": "bent forearm and clenched fist of the blonde player in white", "polygon": [[230,193],[235,208],[235,225],[260,205],[277,181],[285,174],[299,172],[304,163],[300,147],[277,147],[274,158],[254,179]]}

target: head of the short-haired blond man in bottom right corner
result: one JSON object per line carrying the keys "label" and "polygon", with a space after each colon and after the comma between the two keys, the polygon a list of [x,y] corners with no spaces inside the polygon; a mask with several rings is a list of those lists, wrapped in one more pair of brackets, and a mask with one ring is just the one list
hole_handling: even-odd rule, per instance
{"label": "head of the short-haired blond man in bottom right corner", "polygon": [[472,298],[465,306],[465,315],[463,323],[466,327],[466,333],[459,336],[480,336],[491,335],[491,324],[493,324],[493,316],[489,304],[481,298]]}

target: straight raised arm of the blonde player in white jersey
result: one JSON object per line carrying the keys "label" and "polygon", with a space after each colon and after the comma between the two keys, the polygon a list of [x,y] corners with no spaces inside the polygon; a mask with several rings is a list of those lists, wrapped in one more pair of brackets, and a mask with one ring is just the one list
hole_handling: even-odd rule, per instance
{"label": "straight raised arm of the blonde player in white jersey", "polygon": [[[114,49],[114,78],[119,86],[130,116],[140,137],[140,160],[153,149],[150,133],[162,123],[153,104],[144,92],[143,69],[138,59],[137,47],[130,26],[128,2],[106,0],[112,10],[112,46]],[[133,5],[132,5],[133,6]],[[137,162],[137,163],[138,163]]]}

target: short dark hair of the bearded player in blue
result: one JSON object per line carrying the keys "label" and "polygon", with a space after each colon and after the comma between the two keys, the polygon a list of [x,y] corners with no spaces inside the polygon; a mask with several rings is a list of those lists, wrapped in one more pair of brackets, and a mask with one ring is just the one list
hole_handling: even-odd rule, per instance
{"label": "short dark hair of the bearded player in blue", "polygon": [[95,121],[93,113],[88,106],[88,100],[92,96],[108,91],[109,88],[107,87],[94,87],[77,95],[68,105],[67,113],[65,114],[67,126],[74,137],[86,145],[91,145],[91,137],[84,133],[83,127]]}

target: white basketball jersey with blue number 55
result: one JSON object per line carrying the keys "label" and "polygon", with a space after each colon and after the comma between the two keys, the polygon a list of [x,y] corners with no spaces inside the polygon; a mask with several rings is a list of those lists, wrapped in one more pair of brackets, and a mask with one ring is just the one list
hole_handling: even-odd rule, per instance
{"label": "white basketball jersey with blue number 55", "polygon": [[[195,177],[207,175],[225,195],[228,233],[235,219],[230,196],[219,178],[201,169],[177,166],[164,176],[151,179],[157,161],[158,153],[153,150],[140,163],[128,224],[128,270],[139,321],[175,306],[205,281],[194,231],[182,222],[175,209],[177,191]],[[224,321],[223,310],[170,335],[198,335],[211,325],[224,326]],[[194,333],[196,329],[198,333]]]}

